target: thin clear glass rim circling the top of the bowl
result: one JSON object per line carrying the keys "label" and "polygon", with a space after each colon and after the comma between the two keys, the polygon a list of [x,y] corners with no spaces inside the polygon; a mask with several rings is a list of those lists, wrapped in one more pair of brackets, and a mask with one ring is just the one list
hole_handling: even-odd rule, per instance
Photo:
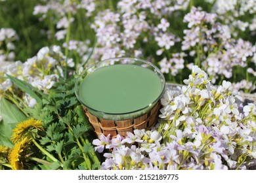
{"label": "thin clear glass rim circling the top of the bowl", "polygon": [[[146,105],[145,107],[142,107],[142,108],[139,108],[137,110],[133,110],[133,111],[129,111],[129,112],[120,112],[120,113],[111,113],[111,112],[103,112],[103,111],[100,111],[100,110],[96,110],[95,108],[91,108],[89,107],[88,105],[86,105],[85,103],[83,103],[83,101],[81,101],[81,99],[79,99],[79,93],[78,90],[79,90],[79,86],[78,86],[78,83],[79,83],[79,80],[81,79],[81,77],[83,75],[85,75],[85,73],[91,69],[92,67],[95,67],[96,65],[100,64],[100,63],[104,63],[104,62],[107,62],[107,61],[112,61],[112,60],[117,60],[118,61],[121,61],[122,59],[130,59],[130,60],[134,60],[134,61],[141,61],[142,63],[145,63],[147,65],[150,65],[151,67],[153,67],[155,70],[153,71],[154,73],[158,73],[158,76],[160,75],[160,81],[161,81],[161,85],[162,85],[162,88],[161,88],[161,93],[160,95],[154,100],[152,101],[152,103],[150,103],[149,105]],[[126,63],[125,63],[126,64]],[[131,64],[132,65],[132,64]],[[107,65],[108,66],[108,65]],[[104,67],[104,66],[103,66]],[[140,66],[141,67],[141,66]],[[98,69],[98,68],[97,68]],[[151,70],[152,71],[152,70]],[[96,112],[96,113],[100,113],[102,115],[112,115],[112,116],[116,116],[116,115],[125,115],[125,114],[133,114],[133,113],[136,113],[136,112],[139,112],[140,110],[144,110],[148,107],[154,107],[154,105],[159,101],[159,99],[161,98],[161,96],[163,95],[163,92],[165,91],[165,77],[163,76],[163,73],[161,73],[160,69],[158,67],[156,67],[156,65],[154,65],[153,63],[151,63],[150,61],[146,61],[146,60],[143,60],[143,59],[139,59],[139,58],[127,58],[127,57],[117,57],[117,58],[108,58],[108,59],[103,59],[101,61],[98,61],[96,63],[93,63],[92,65],[89,65],[88,67],[85,68],[85,70],[78,76],[77,80],[75,81],[75,95],[78,99],[78,101],[85,107],[87,108],[87,110],[91,110],[93,112]]]}

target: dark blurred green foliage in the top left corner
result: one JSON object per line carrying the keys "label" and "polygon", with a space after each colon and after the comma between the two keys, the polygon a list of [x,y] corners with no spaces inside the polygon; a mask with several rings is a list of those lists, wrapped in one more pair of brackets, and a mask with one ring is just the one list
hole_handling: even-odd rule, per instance
{"label": "dark blurred green foliage in the top left corner", "polygon": [[47,39],[43,22],[33,15],[36,0],[0,1],[0,27],[10,27],[18,34],[14,42],[16,60],[26,61],[32,58],[40,48],[51,45]]}

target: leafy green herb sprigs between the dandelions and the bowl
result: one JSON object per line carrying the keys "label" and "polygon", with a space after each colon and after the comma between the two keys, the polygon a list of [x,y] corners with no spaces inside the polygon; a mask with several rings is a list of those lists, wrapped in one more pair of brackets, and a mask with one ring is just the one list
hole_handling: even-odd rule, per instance
{"label": "leafy green herb sprigs between the dandelions and the bowl", "polygon": [[[99,169],[100,161],[91,145],[95,134],[77,101],[74,92],[75,77],[56,82],[48,98],[42,99],[26,113],[43,122],[44,131],[36,141],[58,161],[38,169]],[[38,154],[38,152],[37,152]],[[38,156],[51,162],[43,152]]]}

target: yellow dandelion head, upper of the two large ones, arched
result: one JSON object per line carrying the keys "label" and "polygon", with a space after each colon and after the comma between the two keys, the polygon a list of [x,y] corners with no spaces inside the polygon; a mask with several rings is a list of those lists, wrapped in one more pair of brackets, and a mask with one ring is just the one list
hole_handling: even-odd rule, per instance
{"label": "yellow dandelion head, upper of the two large ones, arched", "polygon": [[16,125],[12,132],[12,142],[18,142],[20,139],[26,137],[31,129],[43,130],[43,124],[40,120],[33,118],[25,120]]}

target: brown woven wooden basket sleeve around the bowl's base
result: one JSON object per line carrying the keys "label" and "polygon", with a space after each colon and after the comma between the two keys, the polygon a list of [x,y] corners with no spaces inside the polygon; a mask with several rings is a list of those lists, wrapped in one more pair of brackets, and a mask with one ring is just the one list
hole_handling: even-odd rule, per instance
{"label": "brown woven wooden basket sleeve around the bowl's base", "polygon": [[143,114],[137,118],[129,120],[105,120],[97,118],[84,107],[85,114],[88,117],[89,122],[93,125],[96,135],[110,134],[110,137],[116,137],[117,134],[126,137],[127,132],[133,133],[135,129],[150,129],[156,124],[158,119],[158,112],[160,110],[160,101],[156,104],[150,112]]}

